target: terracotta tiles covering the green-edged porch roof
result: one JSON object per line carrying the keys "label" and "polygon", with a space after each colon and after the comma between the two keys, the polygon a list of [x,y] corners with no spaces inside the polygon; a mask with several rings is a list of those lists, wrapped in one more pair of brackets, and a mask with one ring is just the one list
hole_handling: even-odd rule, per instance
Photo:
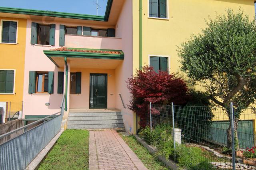
{"label": "terracotta tiles covering the green-edged porch roof", "polygon": [[103,50],[91,50],[91,49],[70,49],[67,47],[61,47],[51,49],[51,51],[71,51],[71,52],[84,52],[84,53],[105,53],[105,54],[121,54],[120,51],[103,51]]}

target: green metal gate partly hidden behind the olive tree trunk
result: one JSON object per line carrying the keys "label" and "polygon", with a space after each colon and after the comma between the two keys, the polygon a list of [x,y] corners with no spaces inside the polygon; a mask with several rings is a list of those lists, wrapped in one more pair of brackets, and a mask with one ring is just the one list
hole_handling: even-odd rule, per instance
{"label": "green metal gate partly hidden behind the olive tree trunk", "polygon": [[[228,127],[229,121],[213,121],[211,124],[210,139],[218,144],[224,144],[226,146],[226,130]],[[252,121],[239,121],[237,132],[240,148],[251,148],[254,146],[254,127]]]}

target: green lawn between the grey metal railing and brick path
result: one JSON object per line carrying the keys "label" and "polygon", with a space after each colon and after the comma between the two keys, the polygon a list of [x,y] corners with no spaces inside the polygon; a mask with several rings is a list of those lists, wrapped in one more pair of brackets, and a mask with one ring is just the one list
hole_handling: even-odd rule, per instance
{"label": "green lawn between the grey metal railing and brick path", "polygon": [[89,166],[89,132],[65,130],[39,170],[87,170]]}

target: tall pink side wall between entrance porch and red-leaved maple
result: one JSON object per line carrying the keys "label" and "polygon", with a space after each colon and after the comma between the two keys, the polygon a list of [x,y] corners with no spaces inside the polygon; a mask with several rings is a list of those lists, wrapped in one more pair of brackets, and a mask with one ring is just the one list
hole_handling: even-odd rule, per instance
{"label": "tall pink side wall between entrance porch and red-leaved maple", "polygon": [[[131,131],[134,133],[136,128],[134,125],[134,113],[128,109],[131,94],[125,82],[133,73],[132,35],[132,0],[126,0],[116,24],[116,36],[122,38],[122,51],[125,55],[123,63],[116,68],[116,108],[122,110],[126,131],[130,131],[130,128],[132,128]],[[122,95],[126,109],[122,105],[119,93]]]}

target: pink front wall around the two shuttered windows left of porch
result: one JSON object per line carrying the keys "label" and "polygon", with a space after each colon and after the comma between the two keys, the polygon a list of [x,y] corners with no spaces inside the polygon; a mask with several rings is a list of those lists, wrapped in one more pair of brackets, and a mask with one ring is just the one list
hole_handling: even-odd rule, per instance
{"label": "pink front wall around the two shuttered windows left of porch", "polygon": [[[51,19],[51,18],[50,18]],[[54,46],[42,46],[42,45],[32,45],[30,44],[31,36],[31,23],[36,22],[39,24],[56,24],[55,30],[55,45]],[[74,20],[76,22],[76,20]],[[25,69],[24,69],[24,107],[23,107],[23,117],[24,115],[51,115],[60,111],[60,103],[63,95],[57,94],[57,83],[58,83],[58,71],[64,71],[64,68],[58,68],[46,57],[43,50],[50,50],[59,48],[59,28],[60,24],[66,26],[91,26],[94,28],[108,28],[104,25],[88,25],[83,23],[67,23],[65,19],[60,21],[55,21],[54,18],[51,21],[48,20],[27,20],[27,30],[26,30],[26,52],[25,52]],[[102,24],[102,23],[101,23]],[[103,23],[104,24],[104,23]],[[116,41],[119,39],[117,38]],[[119,40],[120,41],[120,40]],[[120,45],[120,44],[119,44]],[[86,47],[88,48],[88,47]],[[29,71],[54,71],[54,93],[38,95],[38,94],[28,94],[28,83],[29,83]],[[109,71],[111,72],[111,71]],[[114,71],[112,71],[114,74]],[[114,93],[114,92],[113,92]],[[114,97],[114,96],[112,96]],[[114,101],[114,100],[113,100]],[[50,106],[46,106],[45,103],[50,103]],[[78,107],[77,104],[71,103],[71,106]],[[113,104],[110,103],[110,107]]]}

